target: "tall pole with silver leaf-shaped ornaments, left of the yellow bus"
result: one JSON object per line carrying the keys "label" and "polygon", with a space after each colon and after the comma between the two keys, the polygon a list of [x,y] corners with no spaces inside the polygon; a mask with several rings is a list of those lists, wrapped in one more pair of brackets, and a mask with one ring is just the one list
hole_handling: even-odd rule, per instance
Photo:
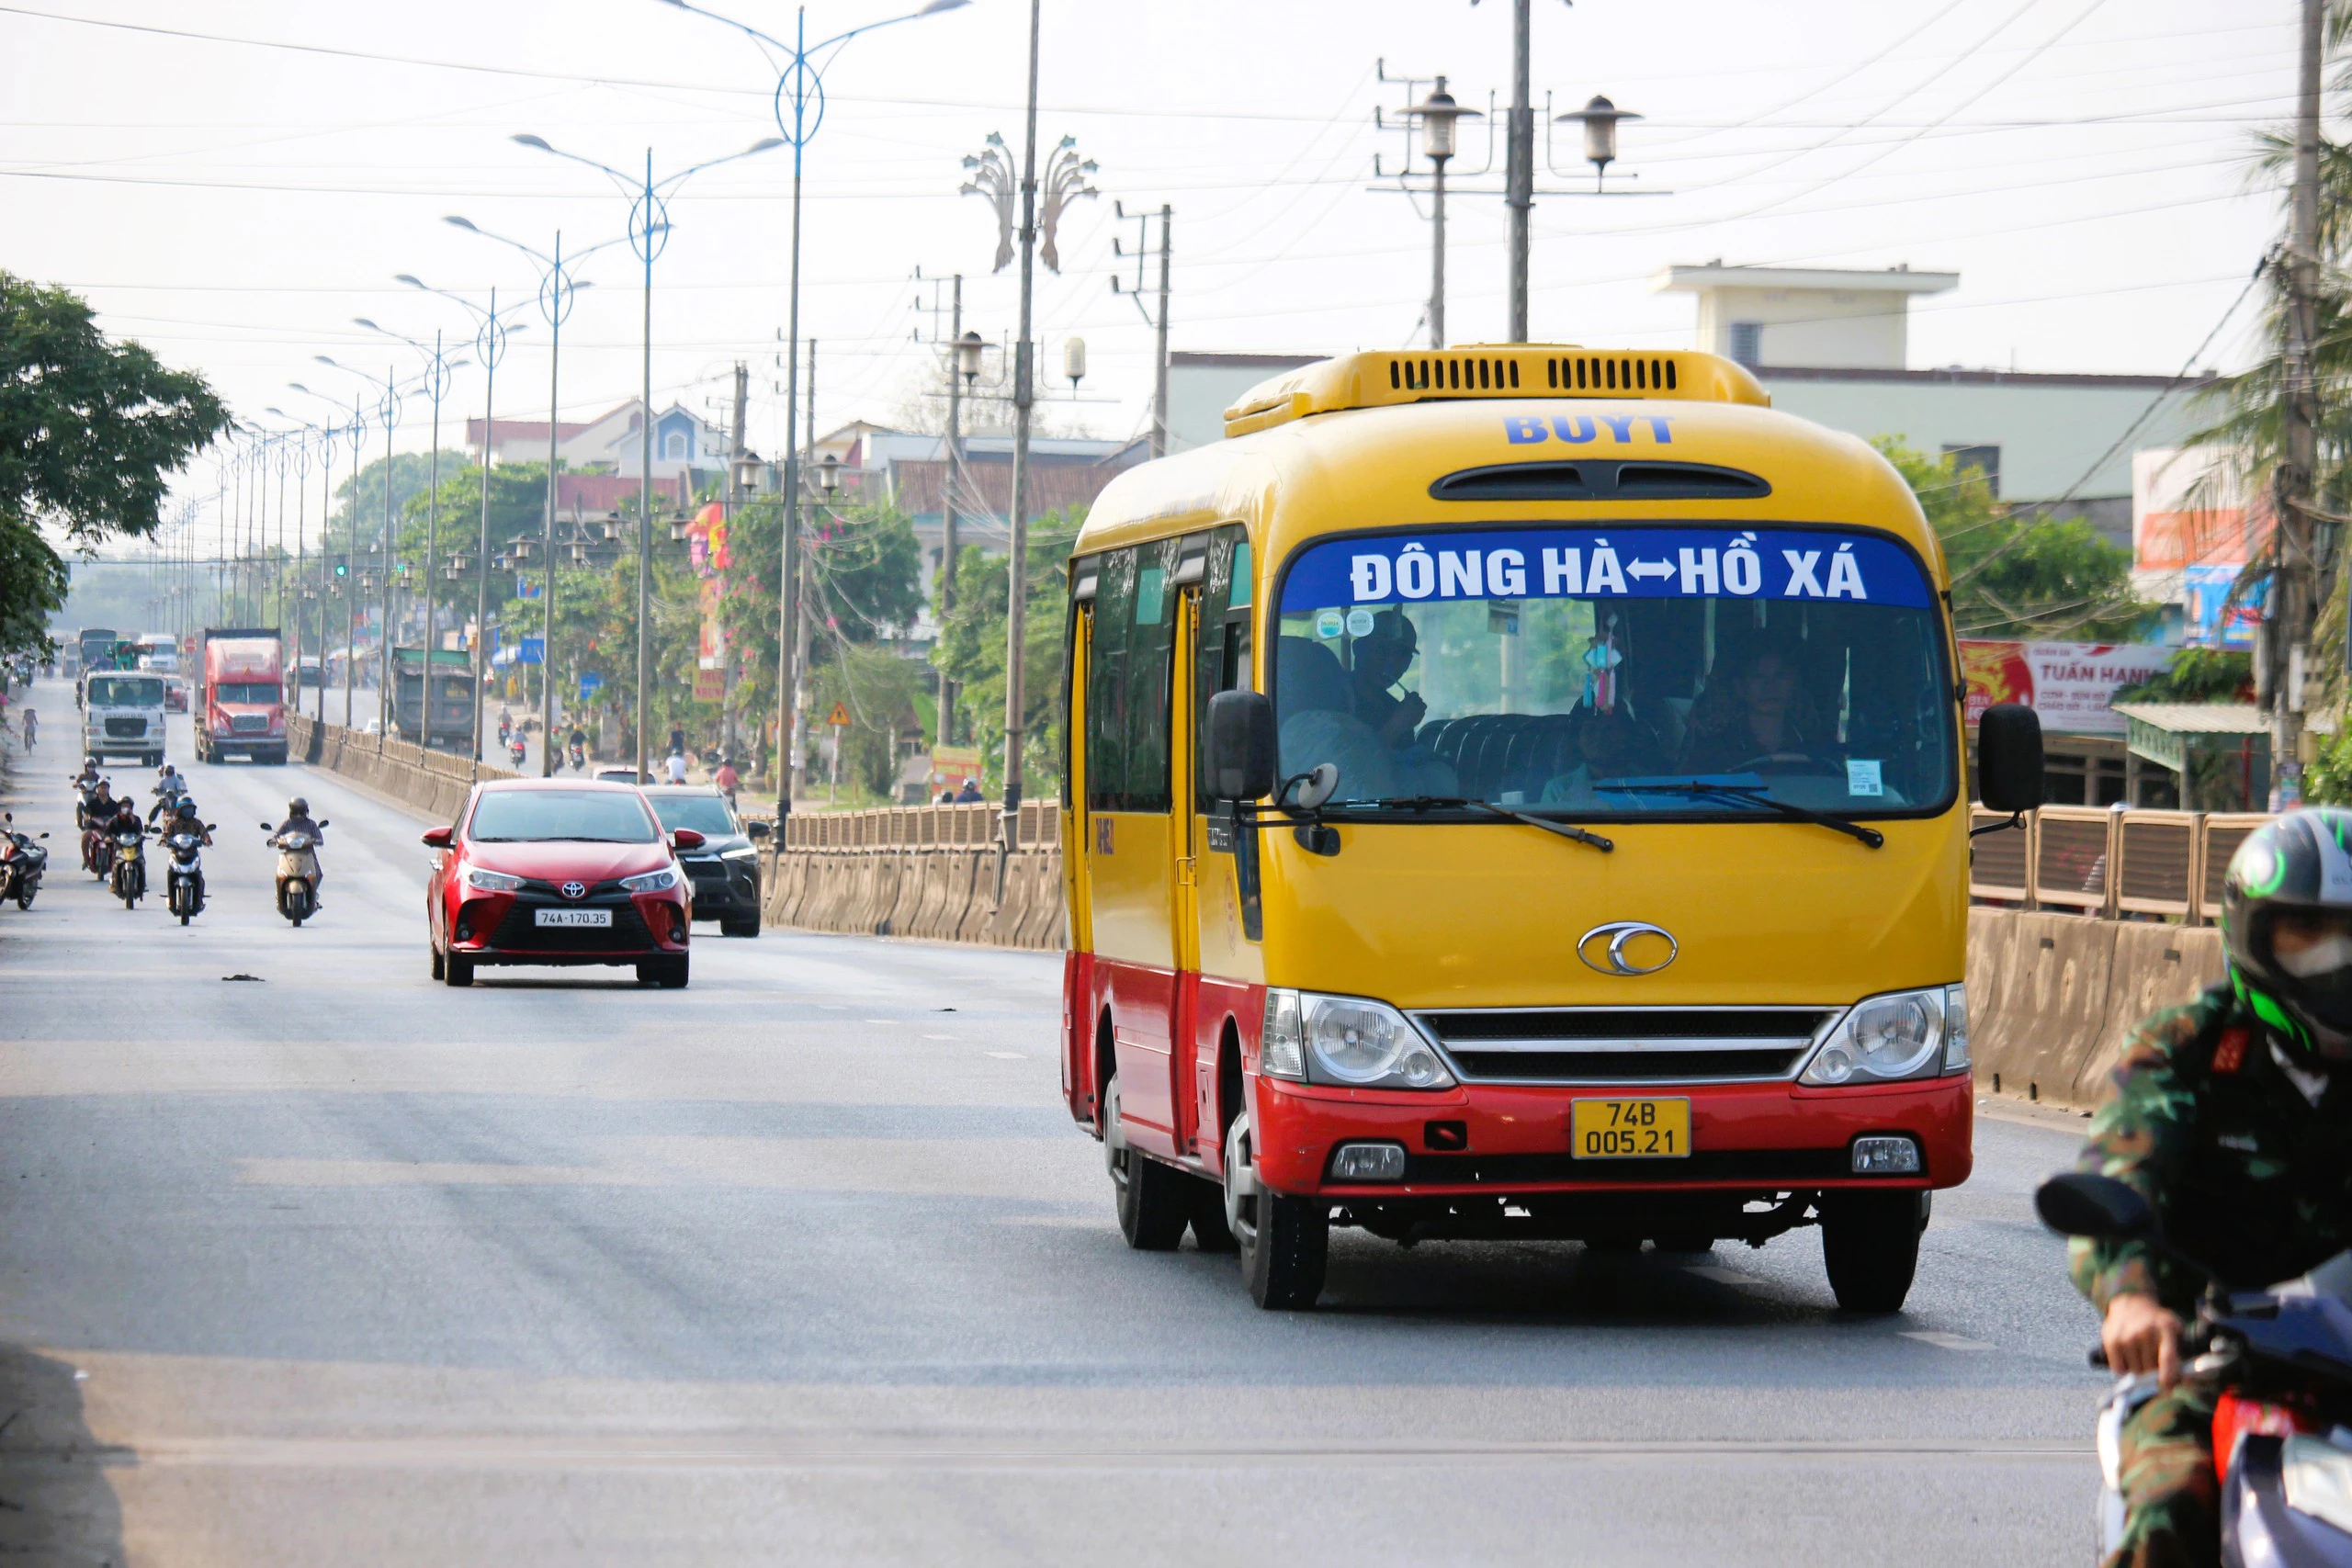
{"label": "tall pole with silver leaf-shaped ornaments, left of the yellow bus", "polygon": [[[1042,0],[1030,0],[1030,75],[1028,75],[1028,136],[1021,150],[1021,336],[1014,343],[1014,498],[1009,522],[1007,574],[1004,574],[1004,830],[997,842],[997,900],[1004,898],[1004,865],[1021,844],[1021,738],[1028,717],[1028,691],[1023,670],[1025,611],[1028,611],[1028,442],[1030,409],[1037,402],[1037,343],[1033,341],[1037,299],[1037,256],[1047,268],[1061,270],[1061,254],[1054,249],[1054,230],[1063,207],[1094,195],[1087,176],[1091,160],[1080,160],[1077,141],[1063,136],[1054,146],[1047,165],[1044,214],[1037,212],[1037,21]],[[964,195],[985,195],[997,209],[997,263],[1002,273],[1014,247],[1014,167],[1004,139],[990,132],[978,158],[967,158],[971,179]],[[1042,240],[1042,244],[1040,244]]]}

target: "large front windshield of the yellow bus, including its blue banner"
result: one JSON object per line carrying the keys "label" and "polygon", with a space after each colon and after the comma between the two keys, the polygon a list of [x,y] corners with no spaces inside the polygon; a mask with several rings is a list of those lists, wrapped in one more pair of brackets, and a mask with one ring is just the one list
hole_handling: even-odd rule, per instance
{"label": "large front windshield of the yellow bus, including its blue banner", "polygon": [[1279,604],[1282,776],[1334,764],[1341,809],[1886,816],[1955,792],[1933,592],[1877,534],[1336,538]]}

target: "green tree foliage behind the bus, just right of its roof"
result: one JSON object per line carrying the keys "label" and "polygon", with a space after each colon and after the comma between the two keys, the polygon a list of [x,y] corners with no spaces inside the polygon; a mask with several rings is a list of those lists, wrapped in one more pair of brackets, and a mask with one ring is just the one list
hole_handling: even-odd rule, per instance
{"label": "green tree foliage behind the bus, just right of its roof", "polygon": [[2131,550],[2082,517],[2018,515],[1976,468],[1931,458],[1882,435],[1872,442],[1919,498],[1952,569],[1962,637],[2129,642],[2150,607],[2131,590]]}

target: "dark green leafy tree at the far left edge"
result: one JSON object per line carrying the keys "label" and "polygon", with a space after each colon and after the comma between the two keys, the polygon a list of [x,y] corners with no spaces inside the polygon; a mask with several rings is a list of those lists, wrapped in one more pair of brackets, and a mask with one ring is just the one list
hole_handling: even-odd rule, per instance
{"label": "dark green leafy tree at the far left edge", "polygon": [[66,562],[162,522],[167,477],[228,425],[202,376],[108,341],[89,306],[0,273],[0,651],[47,646]]}

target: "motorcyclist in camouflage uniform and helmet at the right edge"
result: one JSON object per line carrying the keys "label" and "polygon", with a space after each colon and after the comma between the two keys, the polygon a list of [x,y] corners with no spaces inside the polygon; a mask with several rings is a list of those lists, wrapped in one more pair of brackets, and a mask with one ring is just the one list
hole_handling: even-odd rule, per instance
{"label": "motorcyclist in camouflage uniform and helmet at the right edge", "polygon": [[[2079,1166],[2133,1185],[2230,1288],[2352,1246],[2352,811],[2253,830],[2223,884],[2230,976],[2124,1041]],[[2161,1392],[2122,1429],[2112,1566],[2220,1561],[2211,1387],[2180,1380],[2199,1279],[2140,1241],[2070,1246],[2117,1373]]]}

